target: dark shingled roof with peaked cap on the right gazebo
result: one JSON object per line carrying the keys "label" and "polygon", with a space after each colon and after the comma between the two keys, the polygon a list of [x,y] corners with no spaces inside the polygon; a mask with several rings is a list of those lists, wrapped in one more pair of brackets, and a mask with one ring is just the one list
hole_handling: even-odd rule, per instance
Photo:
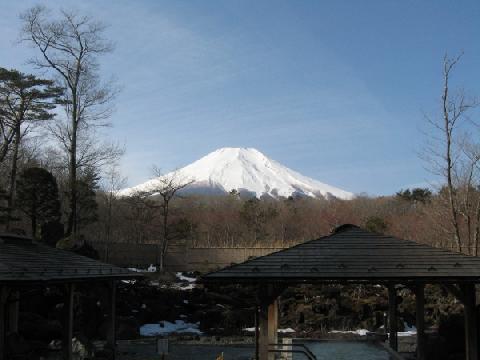
{"label": "dark shingled roof with peaked cap on the right gazebo", "polygon": [[205,282],[480,282],[480,258],[345,224],[331,235],[232,265]]}

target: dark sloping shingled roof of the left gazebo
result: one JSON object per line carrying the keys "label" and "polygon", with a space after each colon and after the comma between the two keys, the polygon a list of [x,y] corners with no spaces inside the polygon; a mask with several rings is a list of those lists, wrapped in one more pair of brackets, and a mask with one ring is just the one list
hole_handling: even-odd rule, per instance
{"label": "dark sloping shingled roof of the left gazebo", "polygon": [[127,269],[39,244],[27,237],[0,235],[0,284],[114,280],[139,276]]}

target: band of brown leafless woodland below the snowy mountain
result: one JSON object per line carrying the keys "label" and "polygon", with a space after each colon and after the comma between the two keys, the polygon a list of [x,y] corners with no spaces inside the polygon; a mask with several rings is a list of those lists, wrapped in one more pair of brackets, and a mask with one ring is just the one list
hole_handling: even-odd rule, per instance
{"label": "band of brown leafless woodland below the snowy mountain", "polygon": [[[104,193],[99,193],[97,199],[99,221],[87,229],[92,241],[162,241],[160,200],[113,197],[110,203],[105,201]],[[237,192],[225,196],[179,196],[170,204],[168,240],[187,241],[193,247],[291,246],[329,234],[338,225],[353,223],[371,231],[452,249],[453,230],[438,226],[445,222],[445,201],[443,192],[432,194],[428,189],[399,191],[384,197],[360,195],[348,201],[242,198]]]}

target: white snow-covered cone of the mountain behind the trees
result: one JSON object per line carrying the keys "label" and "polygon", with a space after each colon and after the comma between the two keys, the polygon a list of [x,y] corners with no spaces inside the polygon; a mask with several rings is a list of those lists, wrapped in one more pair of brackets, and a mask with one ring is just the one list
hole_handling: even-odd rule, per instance
{"label": "white snow-covered cone of the mountain behind the trees", "polygon": [[[166,174],[166,177],[173,173]],[[177,179],[194,181],[187,192],[221,193],[235,189],[257,197],[291,195],[311,197],[336,197],[349,200],[354,195],[348,191],[303,176],[280,163],[269,159],[253,148],[221,148],[175,172]],[[136,191],[149,191],[158,182],[152,179],[132,188],[124,189],[121,196]]]}

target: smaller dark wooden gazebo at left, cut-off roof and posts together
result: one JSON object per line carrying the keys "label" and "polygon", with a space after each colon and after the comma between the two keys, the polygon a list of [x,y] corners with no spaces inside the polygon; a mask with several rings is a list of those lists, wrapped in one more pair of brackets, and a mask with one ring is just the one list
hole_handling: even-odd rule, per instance
{"label": "smaller dark wooden gazebo at left, cut-off roof and posts together", "polygon": [[127,269],[39,244],[27,237],[0,235],[0,360],[6,359],[6,334],[18,332],[20,290],[48,285],[65,287],[64,359],[72,359],[73,300],[75,284],[78,283],[102,282],[108,286],[107,343],[114,350],[116,281],[139,276]]}

